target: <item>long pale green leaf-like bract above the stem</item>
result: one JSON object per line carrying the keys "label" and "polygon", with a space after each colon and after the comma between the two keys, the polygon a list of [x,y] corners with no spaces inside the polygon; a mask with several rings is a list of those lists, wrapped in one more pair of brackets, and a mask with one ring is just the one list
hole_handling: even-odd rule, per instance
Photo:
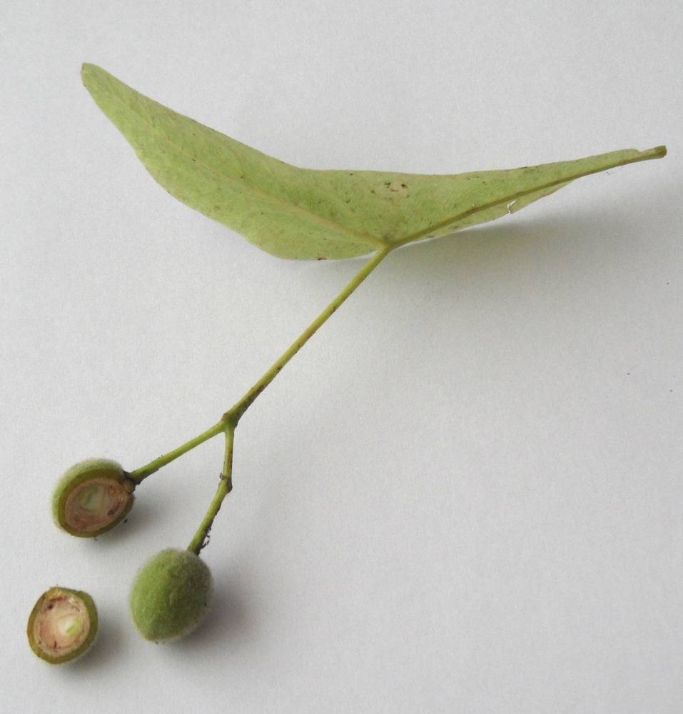
{"label": "long pale green leaf-like bract above the stem", "polygon": [[427,176],[300,169],[84,64],[102,111],[166,191],[281,258],[353,258],[492,221],[580,176],[659,159],[664,146],[540,166]]}

